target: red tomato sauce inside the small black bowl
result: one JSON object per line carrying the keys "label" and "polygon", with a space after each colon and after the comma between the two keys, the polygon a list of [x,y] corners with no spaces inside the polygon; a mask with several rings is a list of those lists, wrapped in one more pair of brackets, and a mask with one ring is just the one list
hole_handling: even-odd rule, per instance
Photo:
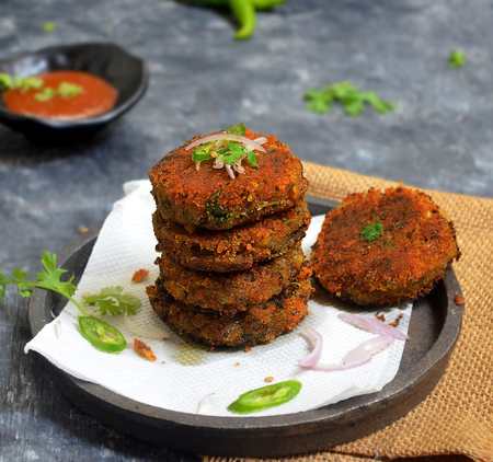
{"label": "red tomato sauce inside the small black bowl", "polygon": [[[110,111],[118,96],[114,86],[87,72],[54,71],[34,77],[43,80],[42,89],[11,89],[3,93],[10,111],[42,118],[88,118]],[[76,91],[58,91],[67,84],[76,85]]]}

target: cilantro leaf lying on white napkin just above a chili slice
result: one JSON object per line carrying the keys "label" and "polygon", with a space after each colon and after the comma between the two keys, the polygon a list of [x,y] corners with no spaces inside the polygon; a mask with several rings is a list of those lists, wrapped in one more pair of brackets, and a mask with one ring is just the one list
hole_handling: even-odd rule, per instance
{"label": "cilantro leaf lying on white napkin just above a chili slice", "polygon": [[85,307],[95,308],[101,315],[136,314],[140,309],[137,297],[125,293],[123,287],[105,287],[98,293],[82,297]]}

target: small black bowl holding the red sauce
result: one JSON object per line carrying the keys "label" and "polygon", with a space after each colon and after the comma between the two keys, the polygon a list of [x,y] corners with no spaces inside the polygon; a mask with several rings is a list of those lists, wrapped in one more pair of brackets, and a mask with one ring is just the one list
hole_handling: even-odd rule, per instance
{"label": "small black bowl holding the red sauce", "polygon": [[85,71],[101,77],[118,91],[108,112],[81,119],[50,119],[15,114],[0,97],[0,123],[27,137],[57,141],[67,136],[100,130],[130,109],[146,93],[149,72],[146,63],[111,43],[83,43],[51,46],[0,59],[0,72],[27,77],[56,70]]}

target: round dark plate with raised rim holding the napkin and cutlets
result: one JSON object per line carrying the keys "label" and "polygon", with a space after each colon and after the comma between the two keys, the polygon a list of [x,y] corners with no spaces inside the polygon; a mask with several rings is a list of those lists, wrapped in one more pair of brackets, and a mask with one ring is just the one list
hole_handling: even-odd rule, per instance
{"label": "round dark plate with raised rim holding the napkin and cutlets", "polygon": [[[332,206],[310,200],[313,215]],[[61,259],[65,268],[80,277],[94,242],[93,236],[74,246]],[[462,308],[454,302],[458,293],[459,285],[449,269],[432,293],[414,302],[400,369],[380,392],[303,413],[246,418],[177,413],[128,400],[49,367],[59,380],[60,390],[74,405],[121,431],[157,444],[236,457],[313,452],[376,431],[426,397],[442,377],[459,335]],[[36,290],[30,304],[33,335],[62,305],[64,301],[56,296]]]}

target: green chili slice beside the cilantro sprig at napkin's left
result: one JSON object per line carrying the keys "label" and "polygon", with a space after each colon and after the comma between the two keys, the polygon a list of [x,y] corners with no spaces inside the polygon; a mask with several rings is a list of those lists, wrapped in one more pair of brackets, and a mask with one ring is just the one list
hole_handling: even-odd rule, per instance
{"label": "green chili slice beside the cilantro sprig at napkin's left", "polygon": [[79,316],[79,331],[94,348],[105,353],[119,353],[127,347],[122,333],[105,321],[94,316]]}

